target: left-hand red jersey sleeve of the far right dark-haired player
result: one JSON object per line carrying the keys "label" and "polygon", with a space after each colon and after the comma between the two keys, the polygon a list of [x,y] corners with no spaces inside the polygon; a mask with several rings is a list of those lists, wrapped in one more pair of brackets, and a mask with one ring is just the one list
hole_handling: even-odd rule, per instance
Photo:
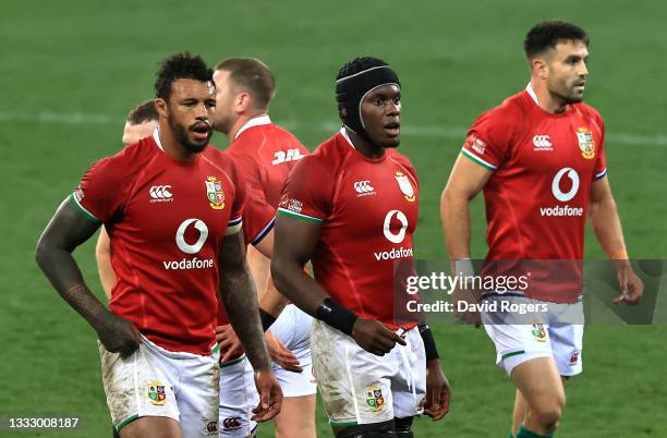
{"label": "left-hand red jersey sleeve of the far right dark-haired player", "polygon": [[505,161],[510,146],[511,120],[498,108],[480,115],[468,131],[461,154],[492,172]]}

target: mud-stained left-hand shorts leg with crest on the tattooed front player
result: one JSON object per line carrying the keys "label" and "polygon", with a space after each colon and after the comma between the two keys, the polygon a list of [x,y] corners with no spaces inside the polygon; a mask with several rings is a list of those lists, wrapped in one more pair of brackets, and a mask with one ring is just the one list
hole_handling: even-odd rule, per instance
{"label": "mud-stained left-hand shorts leg with crest on the tattooed front player", "polygon": [[117,430],[145,416],[179,421],[174,393],[178,372],[165,357],[144,341],[128,357],[107,351],[99,342],[98,346],[107,404]]}

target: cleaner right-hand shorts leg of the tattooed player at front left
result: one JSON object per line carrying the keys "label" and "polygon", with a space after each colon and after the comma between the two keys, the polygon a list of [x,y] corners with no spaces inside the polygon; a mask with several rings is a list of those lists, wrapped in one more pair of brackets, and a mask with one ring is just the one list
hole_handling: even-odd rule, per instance
{"label": "cleaner right-hand shorts leg of the tattooed player at front left", "polygon": [[219,365],[217,354],[179,360],[177,402],[184,438],[218,435]]}

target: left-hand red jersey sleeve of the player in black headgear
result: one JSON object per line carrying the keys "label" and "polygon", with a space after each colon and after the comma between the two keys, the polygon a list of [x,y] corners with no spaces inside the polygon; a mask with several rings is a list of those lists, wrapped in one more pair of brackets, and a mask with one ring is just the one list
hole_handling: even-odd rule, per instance
{"label": "left-hand red jersey sleeve of the player in black headgear", "polygon": [[313,155],[299,160],[290,172],[278,205],[278,215],[322,223],[330,211],[331,169]]}

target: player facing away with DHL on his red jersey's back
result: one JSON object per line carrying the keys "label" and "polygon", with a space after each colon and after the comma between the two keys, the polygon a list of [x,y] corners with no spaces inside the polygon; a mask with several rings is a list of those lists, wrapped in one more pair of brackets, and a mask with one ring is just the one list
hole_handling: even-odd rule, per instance
{"label": "player facing away with DHL on his red jersey's back", "polygon": [[[271,206],[275,211],[290,170],[308,150],[294,135],[274,124],[268,115],[276,90],[274,74],[258,59],[230,58],[216,65],[214,81],[217,89],[214,127],[231,139],[226,153],[243,172],[247,197]],[[260,229],[257,236],[251,236],[246,242],[255,245],[267,230],[268,227]],[[276,291],[270,278],[270,260],[260,253],[248,247],[247,259],[259,293],[259,304],[266,309],[278,308],[274,316],[280,314],[267,331],[274,370],[284,396],[281,412],[275,418],[276,436],[312,438],[315,437],[316,401],[310,348],[312,318],[292,304],[286,306],[287,300]],[[235,334],[229,325],[222,323],[218,328],[220,345],[233,345]],[[245,363],[230,362],[221,366],[220,422],[223,424],[225,418],[241,417],[243,427],[226,430],[221,426],[220,436],[246,436],[243,435],[246,430],[243,410],[247,413],[256,391],[252,386],[243,391],[242,382],[248,381],[243,375],[247,376],[252,369]],[[230,391],[232,387],[234,389]]]}

